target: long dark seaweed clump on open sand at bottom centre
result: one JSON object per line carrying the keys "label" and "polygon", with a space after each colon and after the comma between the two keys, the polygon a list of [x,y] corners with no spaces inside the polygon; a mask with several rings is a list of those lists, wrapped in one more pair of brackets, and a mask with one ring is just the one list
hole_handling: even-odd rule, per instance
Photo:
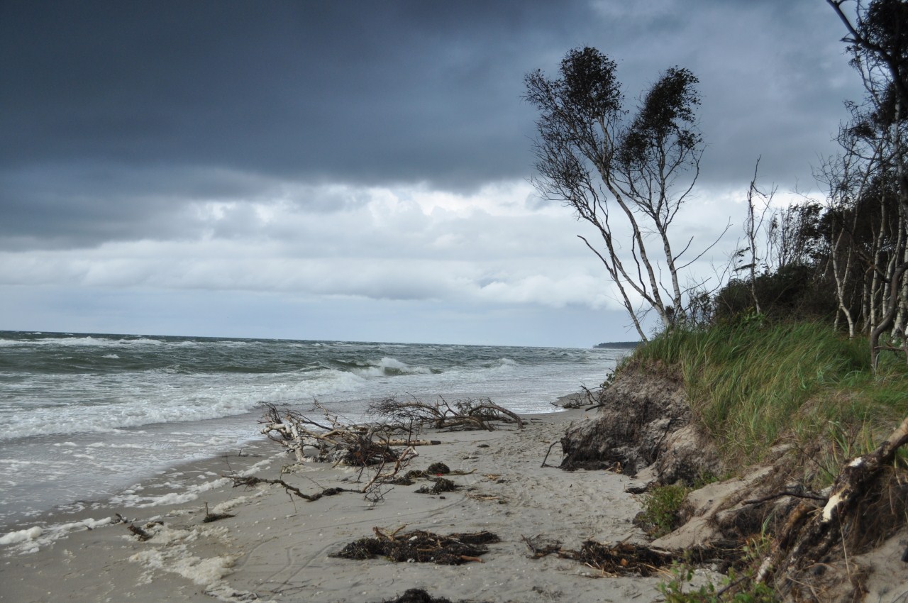
{"label": "long dark seaweed clump on open sand at bottom centre", "polygon": [[479,556],[489,552],[487,544],[498,542],[491,532],[472,532],[439,536],[420,529],[400,535],[365,538],[350,542],[341,551],[329,557],[342,559],[372,559],[385,557],[391,561],[460,565],[479,561]]}

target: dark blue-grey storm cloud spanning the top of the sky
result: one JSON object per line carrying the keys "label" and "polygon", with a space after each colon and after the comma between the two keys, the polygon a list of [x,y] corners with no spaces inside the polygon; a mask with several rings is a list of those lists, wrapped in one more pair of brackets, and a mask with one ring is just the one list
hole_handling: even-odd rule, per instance
{"label": "dark blue-grey storm cloud spanning the top of the sky", "polygon": [[840,29],[818,1],[7,0],[0,238],[188,236],[186,203],[281,180],[465,191],[526,178],[523,76],[555,74],[582,44],[619,61],[631,102],[660,70],[694,69],[702,183],[744,184],[761,154],[766,178],[805,178],[854,98],[834,81],[853,77]]}

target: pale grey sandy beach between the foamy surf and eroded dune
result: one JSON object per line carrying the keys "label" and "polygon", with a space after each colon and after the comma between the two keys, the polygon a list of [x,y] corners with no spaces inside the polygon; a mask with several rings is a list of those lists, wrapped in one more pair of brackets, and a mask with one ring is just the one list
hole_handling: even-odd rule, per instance
{"label": "pale grey sandy beach between the foamy surf and eroded dune", "polygon": [[[270,441],[244,449],[243,456],[174,468],[141,488],[7,534],[10,543],[0,547],[0,601],[352,603],[396,598],[408,588],[453,601],[659,600],[656,585],[665,576],[608,578],[577,561],[528,558],[523,537],[545,535],[567,549],[587,539],[646,539],[632,524],[640,503],[625,492],[627,477],[540,467],[550,443],[571,421],[586,420],[585,413],[526,419],[524,430],[431,432],[442,443],[419,447],[408,469],[440,461],[452,471],[471,471],[450,478],[460,488],[427,495],[414,491],[425,481],[394,486],[377,504],[352,492],[308,502],[280,486],[232,488],[232,480],[221,477],[282,478],[306,493],[361,487],[354,483],[357,470],[324,463],[281,475],[291,459]],[[559,447],[552,452],[548,462],[557,465]],[[194,485],[186,489],[187,482]],[[205,503],[234,517],[202,523]],[[147,528],[153,538],[140,541],[130,524],[114,523],[117,513],[140,527],[161,523]],[[328,557],[373,536],[373,527],[393,532],[402,525],[440,535],[488,530],[501,541],[489,545],[483,562],[459,566]]]}

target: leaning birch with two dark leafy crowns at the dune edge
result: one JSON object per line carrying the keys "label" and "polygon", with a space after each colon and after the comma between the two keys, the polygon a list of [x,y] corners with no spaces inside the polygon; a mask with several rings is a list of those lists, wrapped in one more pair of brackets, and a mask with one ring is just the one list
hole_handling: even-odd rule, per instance
{"label": "leaning birch with two dark leafy crowns at the dune edge", "polygon": [[539,111],[534,184],[598,232],[596,244],[579,238],[646,341],[646,312],[672,329],[686,321],[690,293],[701,284],[682,284],[681,271],[705,250],[685,259],[692,240],[676,252],[669,236],[699,174],[699,81],[687,69],[667,69],[629,115],[616,71],[615,61],[587,47],[568,52],[558,78],[527,75],[525,98]]}

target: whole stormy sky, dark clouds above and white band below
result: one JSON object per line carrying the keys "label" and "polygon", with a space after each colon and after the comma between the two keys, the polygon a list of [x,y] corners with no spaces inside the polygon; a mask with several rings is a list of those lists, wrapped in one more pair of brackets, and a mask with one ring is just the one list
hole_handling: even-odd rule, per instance
{"label": "whole stormy sky, dark clouds above and white band below", "polygon": [[[533,176],[534,69],[700,79],[676,237],[723,266],[858,100],[822,0],[0,3],[0,329],[585,347],[636,339]],[[796,192],[795,192],[796,191]]]}

